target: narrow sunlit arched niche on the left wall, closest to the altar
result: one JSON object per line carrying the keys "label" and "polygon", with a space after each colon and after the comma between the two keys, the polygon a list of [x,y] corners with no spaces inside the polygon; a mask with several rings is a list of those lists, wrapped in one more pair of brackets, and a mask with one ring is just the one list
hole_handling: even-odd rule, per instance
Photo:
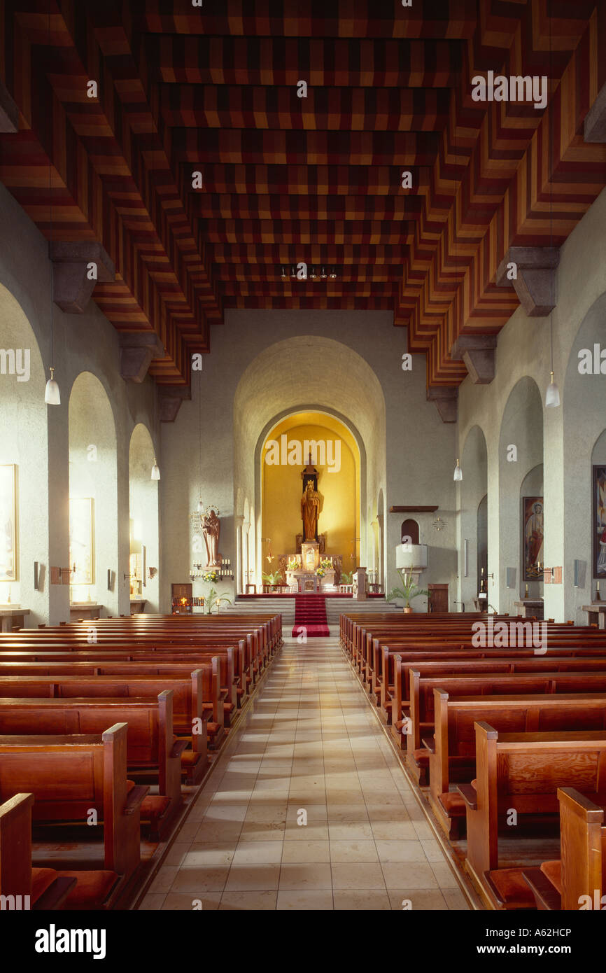
{"label": "narrow sunlit arched niche on the left wall, closest to the altar", "polygon": [[160,610],[158,481],[151,477],[154,456],[150,431],[139,422],[128,446],[130,595],[145,598],[147,612]]}

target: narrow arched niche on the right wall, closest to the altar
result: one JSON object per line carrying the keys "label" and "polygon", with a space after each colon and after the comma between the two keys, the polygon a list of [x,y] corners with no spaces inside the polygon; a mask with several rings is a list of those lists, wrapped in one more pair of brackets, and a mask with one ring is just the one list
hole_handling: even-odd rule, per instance
{"label": "narrow arched niche on the right wall, closest to the altar", "polygon": [[[459,604],[473,610],[480,592],[481,567],[487,574],[486,516],[488,460],[486,440],[480,426],[469,430],[461,453],[463,479],[459,485]],[[483,502],[483,506],[482,506]]]}

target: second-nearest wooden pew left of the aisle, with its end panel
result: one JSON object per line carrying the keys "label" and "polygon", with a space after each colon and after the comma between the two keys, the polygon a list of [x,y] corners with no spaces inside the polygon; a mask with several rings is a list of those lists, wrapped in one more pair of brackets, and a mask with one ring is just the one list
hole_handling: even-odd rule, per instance
{"label": "second-nearest wooden pew left of the aisle, with its end panel", "polygon": [[[89,812],[96,811],[102,822],[103,871],[121,879],[116,883],[114,876],[111,891],[103,899],[105,908],[139,867],[139,814],[149,790],[143,785],[129,789],[126,732],[125,723],[117,723],[101,736],[0,737],[0,801],[33,794],[35,825],[85,824]],[[62,847],[65,852],[65,845]],[[35,846],[33,857],[37,863]],[[65,867],[60,850],[56,860],[49,859],[40,864]],[[97,871],[98,865],[98,858],[82,857],[77,868],[69,862],[69,872]]]}

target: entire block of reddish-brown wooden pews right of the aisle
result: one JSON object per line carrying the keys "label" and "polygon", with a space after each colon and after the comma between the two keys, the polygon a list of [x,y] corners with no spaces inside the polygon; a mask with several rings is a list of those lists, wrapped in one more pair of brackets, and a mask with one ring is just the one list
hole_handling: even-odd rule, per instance
{"label": "entire block of reddish-brown wooden pews right of the aisle", "polygon": [[604,908],[606,632],[386,613],[340,641],[484,906]]}

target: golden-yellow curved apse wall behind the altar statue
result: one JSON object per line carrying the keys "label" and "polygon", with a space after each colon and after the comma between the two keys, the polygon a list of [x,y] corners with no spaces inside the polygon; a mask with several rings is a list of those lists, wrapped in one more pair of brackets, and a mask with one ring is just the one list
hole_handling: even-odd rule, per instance
{"label": "golden-yellow curved apse wall behind the altar statue", "polygon": [[[360,508],[360,453],[355,439],[349,430],[332,415],[305,412],[289,415],[282,419],[268,434],[262,450],[263,484],[263,537],[271,539],[271,554],[275,559],[267,563],[267,543],[263,544],[264,572],[278,569],[277,559],[283,555],[295,554],[297,534],[303,530],[301,519],[301,497],[303,467],[307,457],[297,465],[271,465],[266,461],[267,444],[270,440],[281,444],[280,437],[286,434],[287,443],[295,441],[303,444],[305,440],[340,441],[339,472],[329,473],[328,462],[322,466],[320,455],[314,464],[318,471],[318,492],[323,497],[323,505],[318,519],[318,533],[326,534],[326,554],[342,555],[343,570],[351,570],[357,560],[351,560],[352,538],[359,537]],[[333,447],[335,450],[335,447]],[[333,460],[335,451],[333,451]],[[281,457],[280,457],[281,458]],[[329,456],[327,456],[328,460]],[[359,544],[354,554],[358,555]]]}

